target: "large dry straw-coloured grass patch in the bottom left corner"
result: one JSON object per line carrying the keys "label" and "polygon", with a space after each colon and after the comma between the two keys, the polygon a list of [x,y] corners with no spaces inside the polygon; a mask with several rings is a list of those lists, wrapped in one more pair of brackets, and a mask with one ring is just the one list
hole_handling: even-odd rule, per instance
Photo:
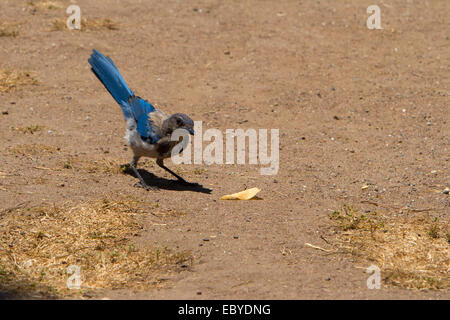
{"label": "large dry straw-coloured grass patch in the bottom left corner", "polygon": [[67,268],[81,269],[81,292],[94,289],[147,289],[159,275],[191,261],[185,252],[138,248],[149,203],[139,200],[89,201],[62,206],[18,208],[0,220],[0,287],[7,292],[40,291],[64,296]]}

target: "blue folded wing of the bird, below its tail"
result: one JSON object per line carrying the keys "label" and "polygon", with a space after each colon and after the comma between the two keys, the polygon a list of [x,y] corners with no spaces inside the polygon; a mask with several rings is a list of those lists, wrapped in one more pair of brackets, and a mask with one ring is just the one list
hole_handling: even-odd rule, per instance
{"label": "blue folded wing of the bird, below its tail", "polygon": [[136,130],[139,132],[141,137],[149,142],[156,143],[161,137],[158,135],[160,130],[158,128],[153,128],[150,121],[150,114],[156,110],[148,101],[140,97],[131,97],[128,103],[131,106],[134,119],[136,119],[137,126]]}

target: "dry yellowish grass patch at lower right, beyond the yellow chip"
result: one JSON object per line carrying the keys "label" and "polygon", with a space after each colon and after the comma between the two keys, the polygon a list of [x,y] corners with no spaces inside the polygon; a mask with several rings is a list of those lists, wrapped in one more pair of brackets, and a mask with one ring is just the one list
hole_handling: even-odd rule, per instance
{"label": "dry yellowish grass patch at lower right, beyond the yellow chip", "polygon": [[400,217],[359,214],[350,206],[334,211],[340,249],[380,267],[387,285],[450,288],[449,221],[428,213]]}

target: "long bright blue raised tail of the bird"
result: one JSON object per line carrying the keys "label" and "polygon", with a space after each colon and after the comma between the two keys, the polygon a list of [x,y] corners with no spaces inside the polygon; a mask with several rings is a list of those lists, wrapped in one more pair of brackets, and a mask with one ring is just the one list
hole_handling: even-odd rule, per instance
{"label": "long bright blue raised tail of the bird", "polygon": [[110,57],[105,57],[97,50],[93,50],[89,58],[89,64],[98,79],[117,101],[123,111],[125,119],[133,117],[131,106],[128,102],[134,93],[128,88],[125,80],[122,78],[119,70]]}

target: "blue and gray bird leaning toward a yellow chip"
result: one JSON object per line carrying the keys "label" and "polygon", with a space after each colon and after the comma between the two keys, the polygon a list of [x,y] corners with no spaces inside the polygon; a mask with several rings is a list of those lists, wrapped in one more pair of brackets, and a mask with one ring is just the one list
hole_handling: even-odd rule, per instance
{"label": "blue and gray bird leaning toward a yellow chip", "polygon": [[112,97],[122,108],[127,129],[125,139],[133,150],[130,167],[139,178],[138,187],[157,189],[146,184],[136,169],[141,157],[156,158],[156,163],[175,176],[181,183],[191,184],[164,165],[164,159],[171,156],[172,149],[178,141],[171,141],[171,134],[177,129],[185,129],[194,134],[194,122],[183,113],[171,116],[158,110],[148,101],[135,96],[110,57],[93,50],[89,63],[92,71],[103,83]]}

